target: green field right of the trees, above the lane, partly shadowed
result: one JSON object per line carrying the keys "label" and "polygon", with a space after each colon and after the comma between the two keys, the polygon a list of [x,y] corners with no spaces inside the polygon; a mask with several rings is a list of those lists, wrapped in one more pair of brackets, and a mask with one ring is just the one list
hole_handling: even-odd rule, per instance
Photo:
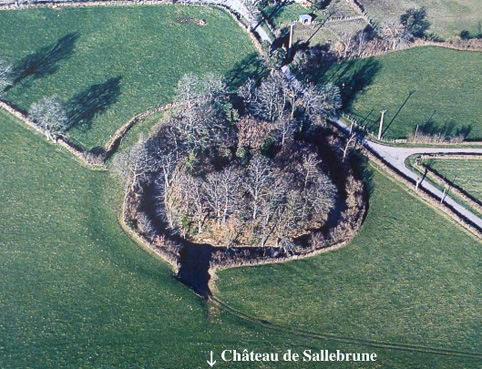
{"label": "green field right of the trees, above the lane, partly shadowed", "polygon": [[468,133],[482,139],[482,52],[416,47],[376,58],[350,60],[314,71],[314,81],[342,87],[345,112],[378,133],[387,110],[384,138],[419,131]]}

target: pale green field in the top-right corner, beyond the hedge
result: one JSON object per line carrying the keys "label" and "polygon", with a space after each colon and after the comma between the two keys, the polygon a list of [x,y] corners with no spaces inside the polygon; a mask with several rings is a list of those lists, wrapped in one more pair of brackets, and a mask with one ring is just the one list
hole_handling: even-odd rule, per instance
{"label": "pale green field in the top-right corner, beyond the hedge", "polygon": [[400,18],[410,8],[427,8],[429,31],[443,38],[467,30],[472,35],[481,32],[482,5],[479,0],[359,0],[368,15],[380,22],[383,18]]}

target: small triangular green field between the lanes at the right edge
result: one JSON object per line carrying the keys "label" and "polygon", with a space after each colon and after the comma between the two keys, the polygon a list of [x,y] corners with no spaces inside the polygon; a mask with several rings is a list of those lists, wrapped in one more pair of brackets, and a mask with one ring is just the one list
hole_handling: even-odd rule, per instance
{"label": "small triangular green field between the lanes at the right edge", "polygon": [[482,161],[477,159],[426,159],[425,163],[449,181],[482,201]]}

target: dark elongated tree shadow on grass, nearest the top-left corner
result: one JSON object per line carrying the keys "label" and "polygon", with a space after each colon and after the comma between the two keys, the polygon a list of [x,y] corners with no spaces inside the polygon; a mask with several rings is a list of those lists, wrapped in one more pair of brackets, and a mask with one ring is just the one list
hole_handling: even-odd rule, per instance
{"label": "dark elongated tree shadow on grass, nearest the top-left corner", "polygon": [[78,32],[68,33],[57,42],[27,55],[13,68],[14,85],[22,83],[26,87],[35,79],[55,73],[59,62],[72,56],[78,38]]}

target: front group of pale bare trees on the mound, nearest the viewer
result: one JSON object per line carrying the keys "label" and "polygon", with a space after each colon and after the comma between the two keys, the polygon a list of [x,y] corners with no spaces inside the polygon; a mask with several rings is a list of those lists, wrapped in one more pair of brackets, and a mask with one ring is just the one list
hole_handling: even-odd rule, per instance
{"label": "front group of pale bare trees on the mound, nearest the viewer", "polygon": [[184,236],[208,231],[221,244],[293,244],[326,221],[336,194],[315,153],[297,156],[281,168],[256,154],[247,167],[233,162],[204,178],[180,168],[169,194],[174,227]]}

